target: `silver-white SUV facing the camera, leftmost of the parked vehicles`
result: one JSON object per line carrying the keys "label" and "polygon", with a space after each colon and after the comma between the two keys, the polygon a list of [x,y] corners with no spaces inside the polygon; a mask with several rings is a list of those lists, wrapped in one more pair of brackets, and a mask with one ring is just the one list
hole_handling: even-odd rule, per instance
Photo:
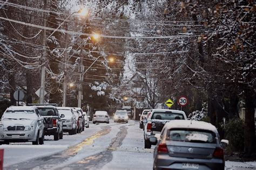
{"label": "silver-white SUV facing the camera, leftmost of the parked vehicles", "polygon": [[33,106],[7,108],[0,123],[1,144],[26,141],[44,144],[44,118]]}

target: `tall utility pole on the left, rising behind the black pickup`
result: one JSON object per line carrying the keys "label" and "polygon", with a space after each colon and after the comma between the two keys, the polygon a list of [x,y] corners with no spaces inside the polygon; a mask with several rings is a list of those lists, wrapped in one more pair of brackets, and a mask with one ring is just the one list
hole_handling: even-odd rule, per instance
{"label": "tall utility pole on the left, rising behind the black pickup", "polygon": [[[47,8],[47,0],[44,0],[44,10]],[[46,14],[44,12],[44,22],[43,26],[46,27]],[[44,84],[45,84],[45,56],[46,56],[46,29],[43,30],[43,56],[42,56],[42,67],[41,67],[41,86],[40,86],[40,97],[39,97],[39,103],[44,104]]]}

